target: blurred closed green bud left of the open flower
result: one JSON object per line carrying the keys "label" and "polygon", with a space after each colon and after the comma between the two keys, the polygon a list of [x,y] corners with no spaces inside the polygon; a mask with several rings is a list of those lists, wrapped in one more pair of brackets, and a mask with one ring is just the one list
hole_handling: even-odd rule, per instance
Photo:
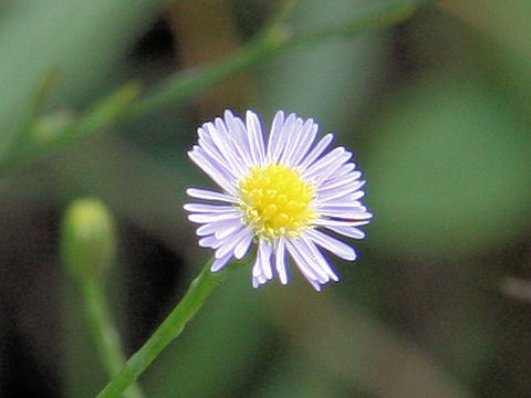
{"label": "blurred closed green bud left of the open flower", "polygon": [[62,224],[61,252],[64,266],[75,277],[104,276],[116,254],[115,226],[104,203],[86,198],[67,208]]}

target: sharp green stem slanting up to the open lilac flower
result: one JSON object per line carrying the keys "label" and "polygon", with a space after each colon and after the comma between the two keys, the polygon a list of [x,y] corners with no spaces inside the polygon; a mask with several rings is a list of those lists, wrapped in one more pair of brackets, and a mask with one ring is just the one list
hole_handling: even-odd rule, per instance
{"label": "sharp green stem slanting up to the open lilac flower", "polygon": [[210,272],[208,263],[201,273],[191,282],[188,292],[177,306],[158,326],[155,333],[125,364],[122,371],[116,375],[107,386],[97,395],[97,398],[118,397],[133,381],[135,381],[160,352],[176,338],[186,324],[202,306],[210,293],[225,281],[231,269],[238,263],[232,263],[219,272]]}

